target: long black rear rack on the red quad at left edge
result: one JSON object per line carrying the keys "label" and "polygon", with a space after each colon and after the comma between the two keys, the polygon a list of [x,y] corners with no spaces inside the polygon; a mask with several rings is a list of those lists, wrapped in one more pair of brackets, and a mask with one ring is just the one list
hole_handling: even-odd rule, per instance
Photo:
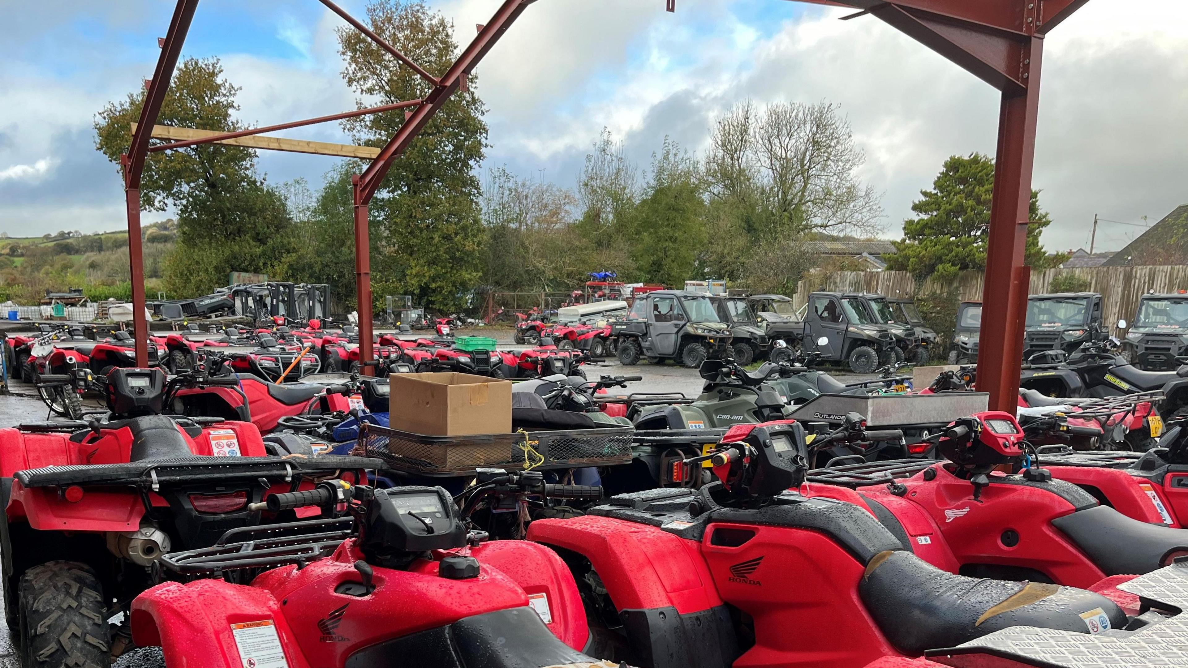
{"label": "long black rear rack on the red quad at left edge", "polygon": [[284,456],[192,456],[133,461],[129,464],[86,464],[30,468],[13,474],[25,487],[126,486],[158,491],[163,485],[190,485],[210,481],[257,480],[285,481],[304,477],[335,475],[340,471],[383,468],[384,462],[348,455],[322,455],[310,459]]}

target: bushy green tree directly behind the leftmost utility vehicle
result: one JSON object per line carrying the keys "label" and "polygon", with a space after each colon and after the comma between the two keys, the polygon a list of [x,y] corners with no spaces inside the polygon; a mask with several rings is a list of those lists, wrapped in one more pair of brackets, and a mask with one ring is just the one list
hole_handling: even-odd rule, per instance
{"label": "bushy green tree directly behind the leftmost utility vehicle", "polygon": [[699,166],[676,141],[664,138],[644,197],[634,213],[632,256],[644,281],[681,285],[694,276],[706,241],[706,202]]}

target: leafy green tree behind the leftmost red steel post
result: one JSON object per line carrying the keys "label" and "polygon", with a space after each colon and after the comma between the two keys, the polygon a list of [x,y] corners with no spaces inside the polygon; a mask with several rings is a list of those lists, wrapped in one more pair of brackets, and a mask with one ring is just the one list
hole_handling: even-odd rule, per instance
{"label": "leafy green tree behind the leftmost red steel post", "polygon": [[[175,71],[157,122],[235,131],[239,92],[216,58],[184,61]],[[95,118],[96,147],[119,164],[132,141],[145,92],[110,102]],[[277,273],[293,248],[284,197],[257,174],[249,149],[200,144],[150,153],[140,185],[141,207],[177,210],[177,246],[165,261],[165,286],[197,295],[223,285],[229,271]]]}

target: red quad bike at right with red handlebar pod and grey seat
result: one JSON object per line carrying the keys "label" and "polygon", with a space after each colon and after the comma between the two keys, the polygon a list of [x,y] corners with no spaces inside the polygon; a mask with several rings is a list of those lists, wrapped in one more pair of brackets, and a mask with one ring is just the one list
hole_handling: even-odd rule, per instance
{"label": "red quad bike at right with red handlebar pod and grey seat", "polygon": [[[804,493],[864,505],[905,549],[962,575],[1105,591],[1107,576],[1150,573],[1188,555],[1188,531],[1127,517],[1035,465],[1010,414],[961,418],[937,441],[944,460],[910,478],[871,485],[859,468],[817,471]],[[848,483],[857,494],[817,481]]]}

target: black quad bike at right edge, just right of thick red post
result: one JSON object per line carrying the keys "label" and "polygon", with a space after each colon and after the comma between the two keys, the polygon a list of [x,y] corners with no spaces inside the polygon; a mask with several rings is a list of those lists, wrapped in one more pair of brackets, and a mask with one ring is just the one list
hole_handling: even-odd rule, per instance
{"label": "black quad bike at right edge, just right of thick red post", "polygon": [[[1188,365],[1178,371],[1143,371],[1108,349],[1108,342],[1081,346],[1072,355],[1037,353],[1024,365],[1019,386],[1049,397],[1118,397],[1163,392],[1164,420],[1188,415]],[[1188,361],[1188,360],[1184,360]]]}

